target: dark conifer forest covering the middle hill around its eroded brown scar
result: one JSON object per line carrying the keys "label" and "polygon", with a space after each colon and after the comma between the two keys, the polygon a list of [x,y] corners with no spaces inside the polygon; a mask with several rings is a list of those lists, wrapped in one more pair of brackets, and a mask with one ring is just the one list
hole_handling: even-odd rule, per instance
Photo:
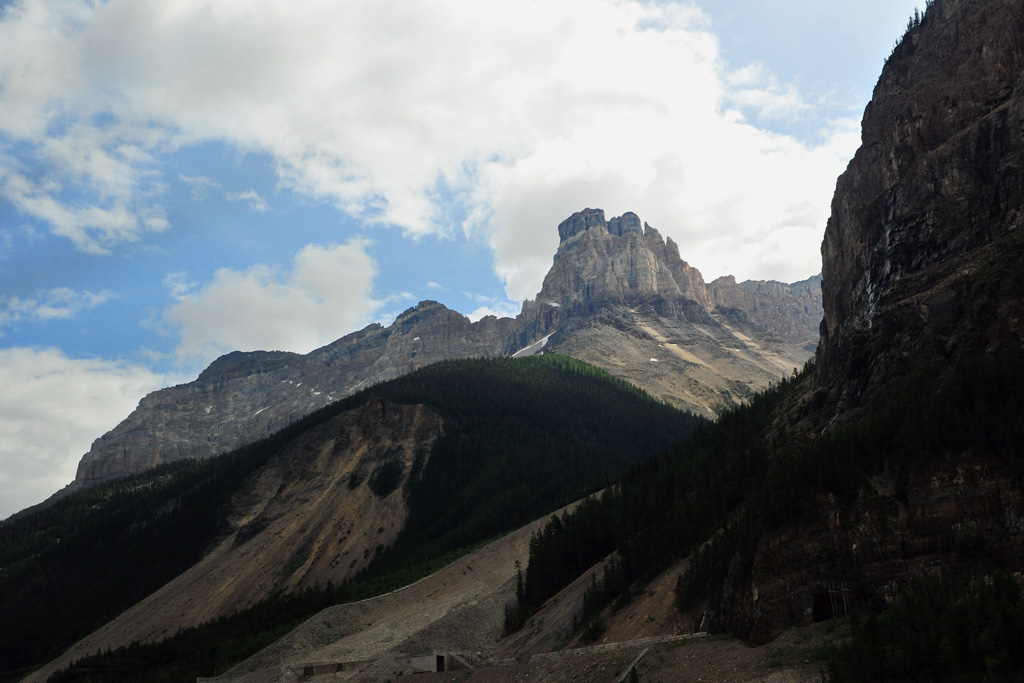
{"label": "dark conifer forest covering the middle hill around its eroded brown scar", "polygon": [[[410,522],[393,548],[344,586],[271,596],[165,643],[106,655],[117,666],[86,660],[67,674],[71,680],[87,680],[74,677],[97,667],[102,680],[122,670],[123,680],[144,680],[131,661],[171,676],[154,680],[221,671],[329,604],[397,588],[596,490],[705,423],[562,356],[452,360],[366,389],[229,455],[78,492],[0,526],[0,680],[54,657],[199,560],[227,532],[227,504],[247,476],[306,429],[375,398],[426,403],[445,421],[404,484]],[[399,483],[393,472],[371,479],[378,495]],[[185,651],[195,654],[169,664]]]}

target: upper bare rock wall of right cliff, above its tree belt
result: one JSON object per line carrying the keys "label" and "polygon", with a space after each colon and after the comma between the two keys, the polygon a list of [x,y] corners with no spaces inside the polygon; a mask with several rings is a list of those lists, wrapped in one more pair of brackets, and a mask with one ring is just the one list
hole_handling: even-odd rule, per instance
{"label": "upper bare rock wall of right cliff, above its tree belt", "polygon": [[908,353],[1020,344],[1024,6],[938,0],[864,112],[821,245],[819,384],[851,401]]}

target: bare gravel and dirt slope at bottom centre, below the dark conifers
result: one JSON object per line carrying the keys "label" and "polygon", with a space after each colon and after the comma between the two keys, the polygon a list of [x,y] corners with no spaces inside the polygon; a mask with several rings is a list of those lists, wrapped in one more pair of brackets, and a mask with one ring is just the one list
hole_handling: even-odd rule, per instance
{"label": "bare gravel and dirt slope at bottom centre, below the dark conifers", "polygon": [[[552,598],[522,631],[502,636],[504,606],[515,591],[515,563],[525,566],[530,536],[541,519],[462,558],[412,586],[361,602],[326,609],[271,646],[225,672],[222,680],[281,683],[300,680],[303,667],[344,664],[339,673],[303,681],[371,683],[417,674],[431,681],[615,681],[644,649],[637,671],[644,681],[725,683],[817,683],[820,665],[811,647],[822,627],[794,630],[760,648],[725,638],[668,643],[663,636],[690,637],[700,610],[681,616],[675,582],[678,562],[615,612],[605,610],[605,631],[596,643],[582,643],[572,623],[591,577],[601,565]],[[595,649],[596,648],[596,649]],[[403,657],[454,652],[476,667],[446,674],[418,673]],[[558,655],[545,653],[557,651]],[[497,666],[503,663],[504,666]]]}

